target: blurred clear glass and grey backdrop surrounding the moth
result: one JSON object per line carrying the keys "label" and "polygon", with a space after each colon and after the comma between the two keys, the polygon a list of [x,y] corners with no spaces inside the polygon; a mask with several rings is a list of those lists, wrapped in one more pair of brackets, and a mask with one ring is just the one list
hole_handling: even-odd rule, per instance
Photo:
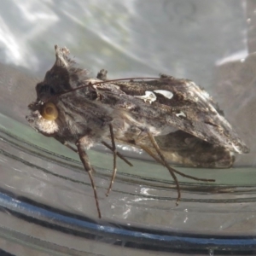
{"label": "blurred clear glass and grey backdrop surrounding the moth", "polygon": [[[250,253],[255,253],[255,241],[248,238],[255,236],[256,228],[255,16],[253,0],[1,1],[3,251],[213,255],[227,248],[236,251],[234,244],[242,252],[249,244]],[[119,162],[113,192],[106,198],[112,155],[90,150],[97,171],[100,221],[78,156],[26,123],[27,105],[36,100],[35,85],[54,64],[55,44],[70,49],[92,77],[105,68],[108,79],[166,73],[195,81],[224,109],[250,154],[236,155],[231,169],[180,168],[217,182],[181,178],[183,200],[176,207],[175,188],[165,168],[139,160],[141,150],[121,145],[119,150],[137,160],[132,161],[133,168]],[[184,241],[184,236],[198,240]],[[226,243],[218,236],[225,236]],[[246,240],[234,243],[234,236]]]}

